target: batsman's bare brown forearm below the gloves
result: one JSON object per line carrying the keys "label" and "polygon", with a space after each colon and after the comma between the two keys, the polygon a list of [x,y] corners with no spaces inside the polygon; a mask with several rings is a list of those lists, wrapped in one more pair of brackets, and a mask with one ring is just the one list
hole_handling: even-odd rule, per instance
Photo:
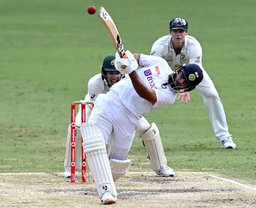
{"label": "batsman's bare brown forearm below the gloves", "polygon": [[138,93],[138,95],[154,105],[154,103],[157,101],[156,92],[147,88],[141,78],[139,78],[136,71],[130,73],[129,77],[131,78],[134,90]]}

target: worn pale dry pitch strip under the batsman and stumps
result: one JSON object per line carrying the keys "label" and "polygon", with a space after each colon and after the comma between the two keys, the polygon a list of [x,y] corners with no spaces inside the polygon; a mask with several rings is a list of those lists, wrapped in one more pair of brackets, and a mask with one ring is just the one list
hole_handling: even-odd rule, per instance
{"label": "worn pale dry pitch strip under the batsman and stumps", "polygon": [[[256,191],[210,177],[205,172],[177,172],[164,178],[130,172],[115,183],[112,207],[255,207]],[[79,179],[79,178],[78,178]],[[0,207],[105,207],[91,177],[70,184],[62,173],[0,174]]]}

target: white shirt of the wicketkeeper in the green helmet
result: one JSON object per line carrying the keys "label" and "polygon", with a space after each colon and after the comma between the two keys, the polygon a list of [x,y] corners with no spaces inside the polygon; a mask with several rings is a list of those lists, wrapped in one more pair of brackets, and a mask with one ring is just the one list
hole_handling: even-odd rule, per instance
{"label": "white shirt of the wicketkeeper in the green helmet", "polygon": [[105,94],[108,91],[108,84],[102,80],[102,74],[98,73],[91,77],[88,82],[88,94],[85,96],[85,100],[95,101],[99,94]]}

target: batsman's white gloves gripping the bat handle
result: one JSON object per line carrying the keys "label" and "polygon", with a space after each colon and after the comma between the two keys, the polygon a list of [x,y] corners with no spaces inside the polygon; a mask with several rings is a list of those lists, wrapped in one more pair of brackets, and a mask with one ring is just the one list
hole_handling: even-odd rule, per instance
{"label": "batsman's white gloves gripping the bat handle", "polygon": [[122,73],[122,75],[132,73],[138,68],[138,62],[133,54],[130,51],[125,51],[125,54],[128,58],[120,58],[118,52],[115,53],[115,68]]}

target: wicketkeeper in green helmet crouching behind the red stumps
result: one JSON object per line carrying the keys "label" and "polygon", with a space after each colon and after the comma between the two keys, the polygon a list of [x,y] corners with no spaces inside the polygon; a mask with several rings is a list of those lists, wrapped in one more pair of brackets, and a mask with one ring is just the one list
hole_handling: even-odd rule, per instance
{"label": "wicketkeeper in green helmet crouching behind the red stumps", "polygon": [[[115,69],[114,66],[115,55],[110,54],[104,58],[102,73],[95,75],[90,78],[88,82],[88,94],[85,96],[85,101],[95,101],[96,97],[99,94],[105,94],[109,91],[110,87],[112,87],[115,83],[119,82],[123,75]],[[92,106],[86,105],[86,121],[88,121],[91,114]],[[81,109],[76,115],[76,126],[81,126]],[[165,152],[163,150],[163,145],[160,137],[159,130],[155,124],[153,127],[148,123],[146,118],[142,117],[139,122],[139,128],[136,131],[136,136],[142,138],[146,151],[148,153],[151,168],[156,171],[157,175],[161,175],[164,177],[173,177],[175,176],[174,171],[168,167]],[[150,128],[150,129],[149,129]],[[156,131],[156,133],[152,136],[151,131]],[[76,175],[77,171],[81,168],[81,134],[80,131],[77,131],[76,135]],[[153,146],[151,146],[152,141],[154,141]],[[64,177],[70,178],[71,176],[71,167],[70,167],[70,125],[67,130],[67,140],[66,140],[66,153],[65,153],[65,161],[64,161]],[[115,169],[118,169],[118,161],[111,160],[112,163],[112,174],[115,180]],[[122,161],[123,166],[123,174],[128,172],[128,167],[130,164],[130,160]],[[117,174],[120,174],[117,172]]]}

